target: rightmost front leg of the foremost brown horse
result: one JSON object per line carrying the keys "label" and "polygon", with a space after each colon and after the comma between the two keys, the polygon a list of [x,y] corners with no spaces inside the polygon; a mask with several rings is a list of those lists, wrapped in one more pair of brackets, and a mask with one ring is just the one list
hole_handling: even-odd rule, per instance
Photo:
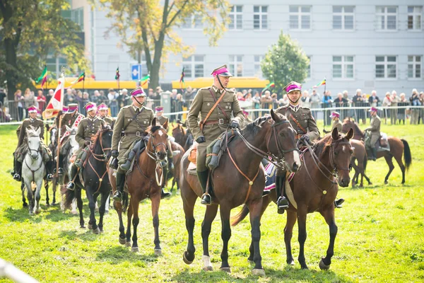
{"label": "rightmost front leg of the foremost brown horse", "polygon": [[250,226],[252,226],[252,243],[254,248],[254,269],[253,275],[265,276],[264,267],[262,267],[261,250],[259,242],[261,241],[261,213],[262,198],[254,200],[249,204]]}

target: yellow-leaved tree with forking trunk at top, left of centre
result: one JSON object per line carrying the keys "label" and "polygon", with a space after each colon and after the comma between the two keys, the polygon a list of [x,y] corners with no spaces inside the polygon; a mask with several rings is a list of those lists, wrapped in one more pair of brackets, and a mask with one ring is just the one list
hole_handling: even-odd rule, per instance
{"label": "yellow-leaved tree with forking trunk at top, left of centre", "polygon": [[[227,23],[227,0],[100,0],[109,9],[108,18],[114,22],[110,31],[121,37],[129,47],[129,53],[141,63],[141,53],[146,55],[146,65],[150,83],[159,85],[159,71],[167,55],[189,56],[193,48],[184,45],[181,37],[172,28],[184,23],[190,16],[201,18],[204,33],[209,36],[209,44],[216,45],[225,31]],[[163,4],[162,4],[163,3]]]}

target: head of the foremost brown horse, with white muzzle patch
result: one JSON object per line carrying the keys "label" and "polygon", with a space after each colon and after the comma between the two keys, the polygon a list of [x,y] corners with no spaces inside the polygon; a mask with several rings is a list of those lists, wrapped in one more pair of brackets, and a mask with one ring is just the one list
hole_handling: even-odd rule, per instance
{"label": "head of the foremost brown horse, with white muzzle patch", "polygon": [[[273,121],[273,122],[272,122]],[[287,117],[271,109],[271,131],[268,134],[268,150],[275,156],[283,156],[284,164],[290,172],[297,172],[302,163],[295,142],[295,129]],[[273,137],[274,136],[274,137]]]}

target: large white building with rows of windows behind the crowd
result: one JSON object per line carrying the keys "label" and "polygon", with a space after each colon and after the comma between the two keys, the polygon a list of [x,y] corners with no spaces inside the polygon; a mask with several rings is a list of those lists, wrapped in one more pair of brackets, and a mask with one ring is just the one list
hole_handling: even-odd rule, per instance
{"label": "large white building with rows of windows behind the crowd", "polygon": [[[136,59],[117,47],[117,35],[105,37],[111,23],[107,11],[93,11],[86,0],[71,2],[74,11],[82,9],[86,52],[96,79],[112,80],[118,65],[121,79],[131,79]],[[220,64],[228,64],[235,76],[260,77],[259,62],[283,30],[310,57],[306,88],[326,78],[333,96],[345,89],[352,96],[356,88],[365,93],[375,89],[380,98],[391,90],[407,96],[412,88],[424,90],[423,0],[230,2],[232,23],[217,47],[208,46],[195,16],[176,29],[196,50],[188,59],[170,56],[161,83],[179,79],[183,65],[186,79],[209,76]]]}

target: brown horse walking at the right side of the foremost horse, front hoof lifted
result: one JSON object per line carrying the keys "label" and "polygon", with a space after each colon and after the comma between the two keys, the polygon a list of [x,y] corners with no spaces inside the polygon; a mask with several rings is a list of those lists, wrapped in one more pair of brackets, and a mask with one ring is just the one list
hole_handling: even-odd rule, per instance
{"label": "brown horse walking at the right side of the foremost horse, front hoof lifted", "polygon": [[[307,236],[306,217],[308,213],[319,212],[329,225],[330,231],[329,248],[326,251],[326,257],[319,262],[319,267],[322,270],[328,270],[330,267],[331,257],[334,255],[334,241],[337,235],[337,226],[334,219],[334,200],[336,200],[338,185],[347,187],[351,181],[349,164],[351,163],[353,150],[349,140],[352,137],[352,129],[345,136],[338,134],[338,130],[335,128],[331,134],[326,134],[323,139],[317,141],[313,149],[307,145],[307,151],[302,155],[302,167],[290,180],[295,204],[289,197],[290,207],[286,209],[287,223],[284,228],[284,242],[287,255],[286,261],[289,265],[295,264],[290,241],[293,235],[293,226],[296,223],[296,219],[298,219],[298,241],[300,244],[298,260],[300,267],[307,269],[304,253]],[[337,175],[337,178],[334,175]],[[261,214],[264,213],[271,200],[273,202],[277,201],[275,190],[264,197]],[[232,226],[240,223],[249,214],[249,210],[249,207],[243,207],[240,213],[233,217]],[[252,260],[252,250],[249,260]]]}

